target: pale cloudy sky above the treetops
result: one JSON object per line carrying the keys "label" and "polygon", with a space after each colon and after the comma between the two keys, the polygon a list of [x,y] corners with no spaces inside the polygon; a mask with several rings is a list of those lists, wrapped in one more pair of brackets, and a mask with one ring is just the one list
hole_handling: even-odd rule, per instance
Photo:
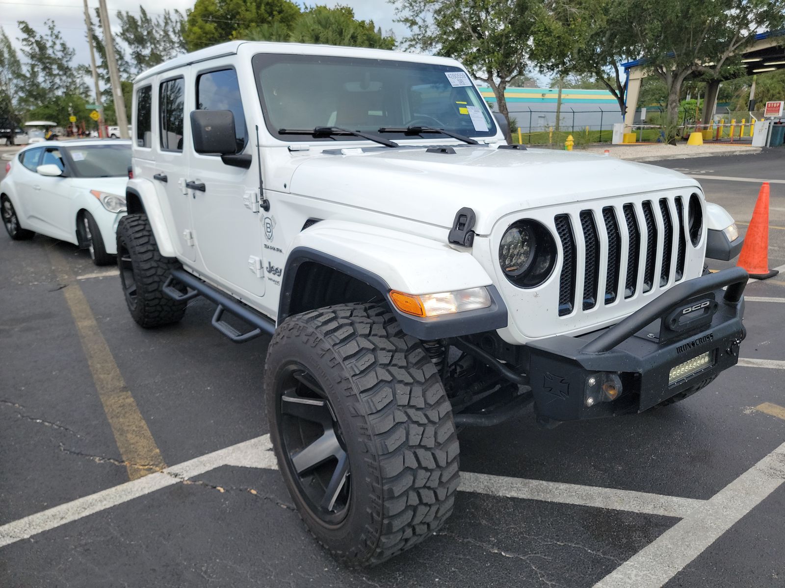
{"label": "pale cloudy sky above the treetops", "polygon": [[[119,26],[115,17],[118,10],[128,10],[129,12],[138,11],[138,6],[150,14],[159,14],[162,9],[178,9],[185,13],[185,9],[191,8],[195,0],[107,0],[110,18],[113,26]],[[382,27],[383,31],[392,31],[397,39],[403,38],[406,34],[406,27],[393,22],[395,18],[395,7],[386,0],[314,0],[309,4],[325,4],[333,6],[343,4],[352,6],[355,16],[360,20],[373,20],[374,24]],[[87,0],[90,8],[90,15],[93,16],[94,8],[98,6],[98,0]],[[16,46],[19,46],[17,38],[21,36],[19,27],[16,26],[18,20],[26,20],[28,24],[42,31],[44,21],[47,18],[53,19],[66,42],[76,51],[75,59],[82,64],[89,64],[89,49],[85,38],[85,16],[83,0],[0,0],[0,26],[3,27],[5,34],[9,36]]]}

